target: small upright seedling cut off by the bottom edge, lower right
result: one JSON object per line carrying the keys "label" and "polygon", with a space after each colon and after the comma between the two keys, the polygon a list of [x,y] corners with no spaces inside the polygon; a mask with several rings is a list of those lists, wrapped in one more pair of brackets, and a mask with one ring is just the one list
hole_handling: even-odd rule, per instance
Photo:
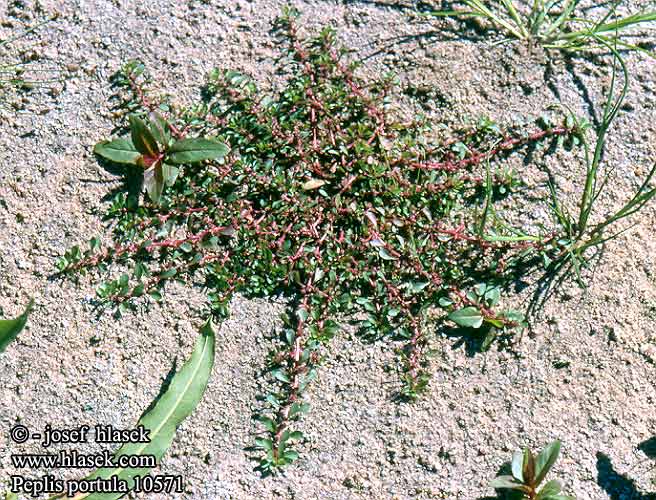
{"label": "small upright seedling cut off by the bottom edge, lower right", "polygon": [[526,500],[576,500],[573,496],[561,494],[562,486],[555,479],[540,487],[559,453],[560,441],[549,444],[537,456],[528,448],[516,452],[511,463],[512,475],[495,478],[490,488],[512,490],[518,492],[518,498]]}

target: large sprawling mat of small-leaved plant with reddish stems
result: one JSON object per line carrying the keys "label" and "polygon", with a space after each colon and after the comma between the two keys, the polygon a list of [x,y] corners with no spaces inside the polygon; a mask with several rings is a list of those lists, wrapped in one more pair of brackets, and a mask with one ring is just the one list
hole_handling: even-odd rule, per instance
{"label": "large sprawling mat of small-leaved plant with reddish stems", "polygon": [[408,399],[428,383],[428,343],[441,322],[492,340],[521,326],[499,306],[500,290],[522,263],[560,247],[550,231],[489,237],[489,214],[517,183],[500,163],[581,133],[566,123],[504,131],[486,120],[454,141],[423,119],[402,122],[392,78],[358,77],[333,31],[305,39],[296,17],[276,23],[286,48],[275,93],[215,70],[202,102],[173,109],[148,91],[142,64],[126,65],[114,82],[130,135],[96,153],[145,174],[149,199],[119,193],[108,212],[114,241],[93,238],[59,262],[65,273],[106,274],[98,296],[119,313],[159,301],[174,280],[202,284],[217,319],[235,293],[287,299],[257,415],[264,471],[298,457],[305,393],[339,321],[401,343]]}

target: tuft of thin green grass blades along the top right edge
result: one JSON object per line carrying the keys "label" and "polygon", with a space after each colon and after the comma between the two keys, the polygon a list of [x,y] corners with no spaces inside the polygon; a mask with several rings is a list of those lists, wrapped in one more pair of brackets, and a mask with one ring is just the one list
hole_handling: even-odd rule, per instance
{"label": "tuft of thin green grass blades along the top right edge", "polygon": [[653,52],[627,40],[636,35],[636,27],[649,26],[656,21],[656,11],[617,17],[615,11],[621,1],[610,2],[595,19],[579,12],[582,0],[462,0],[455,3],[465,9],[432,11],[429,15],[487,20],[503,33],[500,43],[533,41],[545,49],[569,52],[605,49],[609,44],[654,57]]}

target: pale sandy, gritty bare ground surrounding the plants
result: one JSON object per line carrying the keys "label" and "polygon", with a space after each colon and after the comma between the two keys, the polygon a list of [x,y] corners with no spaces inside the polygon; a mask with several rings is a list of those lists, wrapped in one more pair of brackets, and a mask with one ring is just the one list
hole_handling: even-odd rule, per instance
{"label": "pale sandy, gritty bare ground surrounding the plants", "polygon": [[[34,7],[31,1],[10,4],[0,1],[0,37]],[[104,197],[120,185],[91,154],[113,125],[108,77],[138,57],[162,91],[181,101],[198,95],[215,66],[267,82],[275,55],[268,31],[283,2],[41,4],[60,18],[18,47],[35,51],[40,63],[59,64],[68,79],[0,108],[0,307],[13,316],[28,297],[36,299],[29,327],[0,357],[0,481],[18,472],[11,453],[40,450],[10,441],[14,423],[35,430],[48,423],[132,426],[173,362],[189,354],[200,324],[202,296],[194,290],[176,288],[161,308],[116,321],[98,317],[89,304],[92,279],[79,285],[50,279],[67,248],[103,234]],[[557,63],[546,73],[544,54],[491,48],[455,23],[411,19],[399,5],[294,4],[308,27],[337,27],[356,56],[366,57],[364,71],[398,72],[402,88],[419,88],[425,96],[413,106],[454,123],[483,114],[505,122],[528,119],[559,99],[589,114],[589,101],[598,104],[609,81],[608,68],[583,59],[570,68]],[[432,36],[411,36],[430,30]],[[394,37],[402,43],[388,47]],[[601,215],[626,199],[656,155],[654,63],[629,61],[631,94],[606,152],[616,175]],[[574,200],[581,174],[576,156],[558,154],[548,162]],[[261,478],[244,448],[257,428],[251,413],[266,335],[281,305],[236,299],[220,328],[206,396],[160,468],[184,477],[186,492],[173,498],[479,499],[493,495],[486,484],[513,450],[555,438],[563,454],[554,477],[568,493],[655,498],[656,455],[649,446],[656,435],[655,207],[635,222],[607,246],[588,275],[589,288],[567,285],[555,294],[514,351],[472,354],[459,339],[436,334],[435,376],[414,405],[392,401],[399,385],[394,346],[363,344],[344,332],[310,391],[313,409],[302,427],[311,441],[276,478]],[[524,291],[513,301],[528,297]],[[32,477],[47,472],[22,471]]]}

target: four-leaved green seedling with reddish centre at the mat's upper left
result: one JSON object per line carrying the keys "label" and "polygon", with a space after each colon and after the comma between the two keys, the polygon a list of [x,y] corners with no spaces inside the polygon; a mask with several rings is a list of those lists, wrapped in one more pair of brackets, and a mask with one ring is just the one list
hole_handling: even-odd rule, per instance
{"label": "four-leaved green seedling with reddish centre at the mat's upper left", "polygon": [[144,169],[144,187],[153,203],[159,203],[164,186],[171,186],[180,173],[179,165],[216,160],[228,154],[226,144],[216,139],[183,138],[174,140],[171,125],[152,113],[148,123],[130,115],[130,138],[118,138],[96,144],[97,155]]}

